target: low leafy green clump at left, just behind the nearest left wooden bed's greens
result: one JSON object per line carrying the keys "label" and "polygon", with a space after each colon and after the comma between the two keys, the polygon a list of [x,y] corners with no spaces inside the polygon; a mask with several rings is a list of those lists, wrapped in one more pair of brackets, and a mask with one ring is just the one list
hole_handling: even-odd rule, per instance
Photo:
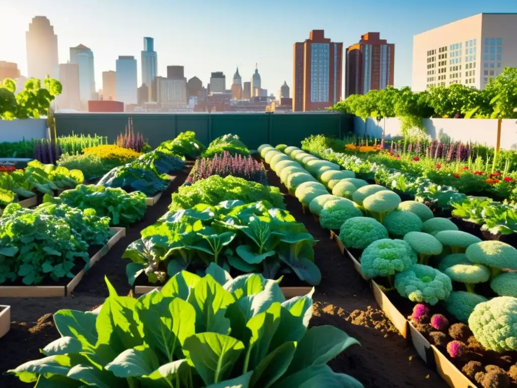
{"label": "low leafy green clump at left, just behind the nearest left wooden bed's greens", "polygon": [[82,210],[94,209],[100,217],[109,217],[111,225],[129,226],[142,219],[147,205],[140,191],[127,193],[121,188],[95,185],[78,185],[53,198],[45,195],[44,202],[64,203]]}

